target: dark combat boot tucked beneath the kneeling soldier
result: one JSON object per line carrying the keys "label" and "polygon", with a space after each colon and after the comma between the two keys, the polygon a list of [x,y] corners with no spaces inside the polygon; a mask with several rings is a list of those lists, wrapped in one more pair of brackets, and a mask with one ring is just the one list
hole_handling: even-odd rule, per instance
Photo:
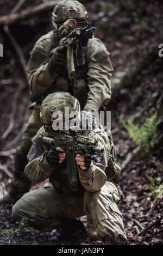
{"label": "dark combat boot tucked beneath the kneeling soldier", "polygon": [[49,243],[76,242],[86,237],[84,224],[74,218],[65,219],[60,225],[62,231],[59,235],[49,237]]}

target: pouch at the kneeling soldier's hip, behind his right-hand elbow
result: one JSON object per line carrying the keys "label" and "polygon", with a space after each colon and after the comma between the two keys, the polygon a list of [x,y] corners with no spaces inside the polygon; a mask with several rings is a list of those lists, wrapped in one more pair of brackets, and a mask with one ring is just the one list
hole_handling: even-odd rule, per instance
{"label": "pouch at the kneeling soldier's hip, behind his right-hand elbow", "polygon": [[121,167],[115,162],[116,160],[116,147],[113,142],[109,139],[111,150],[108,161],[108,167],[105,169],[105,174],[108,178],[108,181],[114,181],[116,184],[120,182],[121,176]]}

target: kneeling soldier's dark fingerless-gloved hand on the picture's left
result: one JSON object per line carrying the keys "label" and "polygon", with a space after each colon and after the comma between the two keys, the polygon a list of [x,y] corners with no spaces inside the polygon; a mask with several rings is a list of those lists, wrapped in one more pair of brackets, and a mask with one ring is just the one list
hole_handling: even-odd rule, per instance
{"label": "kneeling soldier's dark fingerless-gloved hand on the picture's left", "polygon": [[60,147],[52,147],[51,150],[45,156],[45,160],[51,165],[51,167],[56,166],[64,162],[65,155],[60,152],[64,152],[64,149]]}

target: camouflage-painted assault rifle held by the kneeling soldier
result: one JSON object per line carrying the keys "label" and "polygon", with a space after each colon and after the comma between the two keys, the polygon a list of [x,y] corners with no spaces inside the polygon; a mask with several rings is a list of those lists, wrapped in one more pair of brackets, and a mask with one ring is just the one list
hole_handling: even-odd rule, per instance
{"label": "camouflage-painted assault rifle held by the kneeling soldier", "polygon": [[85,156],[89,156],[93,163],[105,165],[103,157],[104,149],[97,147],[97,140],[91,136],[83,136],[80,133],[77,133],[76,136],[59,133],[58,135],[54,135],[53,138],[43,137],[43,149],[45,151],[49,151],[53,146],[65,150],[70,185],[76,184],[78,181],[74,159],[76,154],[84,154]]}

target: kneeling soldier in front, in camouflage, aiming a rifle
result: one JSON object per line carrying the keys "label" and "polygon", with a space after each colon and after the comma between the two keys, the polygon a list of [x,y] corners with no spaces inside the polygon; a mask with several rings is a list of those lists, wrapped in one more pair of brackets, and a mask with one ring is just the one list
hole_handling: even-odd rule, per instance
{"label": "kneeling soldier in front, in camouflage, aiming a rifle", "polygon": [[[66,118],[65,107],[69,109],[71,120]],[[74,134],[71,130],[73,112],[80,120],[79,101],[69,93],[52,93],[43,100],[40,110],[43,126],[33,138],[33,145],[27,156],[29,163],[24,173],[36,183],[49,178],[52,185],[24,194],[13,206],[13,215],[17,220],[26,218],[27,224],[40,230],[52,231],[61,228],[59,236],[55,235],[49,239],[51,243],[83,239],[85,227],[76,218],[87,215],[105,245],[127,245],[122,215],[117,206],[123,194],[115,182],[116,175],[111,177],[110,172],[106,172],[108,162],[115,164],[110,156],[111,144],[108,135],[99,128],[82,130],[80,135],[79,132]],[[53,122],[58,117],[62,121],[63,129],[58,126],[58,131],[54,131]],[[69,121],[70,128],[65,129]],[[66,133],[65,137],[63,133]],[[60,136],[59,141],[55,137],[57,135]],[[63,144],[61,137],[64,137]],[[76,137],[76,141],[71,141]],[[84,139],[86,141],[82,148]],[[48,140],[54,143],[49,149],[44,144]],[[92,141],[95,142],[93,146]],[[93,147],[96,152],[103,153],[97,155],[89,151],[89,154],[85,155],[81,150],[85,149],[86,145],[87,149]],[[67,159],[69,153],[71,157]],[[99,157],[102,161],[99,161]],[[72,172],[74,166],[77,167],[76,172]],[[73,173],[73,177],[77,175],[76,182],[71,182],[70,173]]]}

